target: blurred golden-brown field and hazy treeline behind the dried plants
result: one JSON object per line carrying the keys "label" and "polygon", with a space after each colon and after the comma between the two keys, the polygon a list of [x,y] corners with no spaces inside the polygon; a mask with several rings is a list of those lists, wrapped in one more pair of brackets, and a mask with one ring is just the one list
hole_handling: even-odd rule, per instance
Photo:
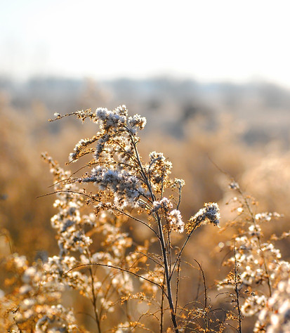
{"label": "blurred golden-brown field and hazy treeline behind the dried plants", "polygon": [[[50,192],[52,184],[40,154],[48,151],[65,165],[74,144],[96,129],[74,119],[54,123],[48,119],[54,112],[126,103],[129,112],[147,117],[140,143],[144,159],[152,150],[162,151],[173,162],[174,176],[185,179],[185,219],[204,202],[223,204],[233,177],[256,197],[259,209],[284,214],[283,221],[272,226],[279,233],[287,228],[290,216],[289,98],[288,90],[265,83],[199,84],[168,78],[105,82],[54,78],[25,84],[2,80],[1,227],[11,232],[13,247],[30,259],[38,252],[53,251],[49,223],[53,197],[37,198]],[[223,214],[222,223],[226,221]]]}

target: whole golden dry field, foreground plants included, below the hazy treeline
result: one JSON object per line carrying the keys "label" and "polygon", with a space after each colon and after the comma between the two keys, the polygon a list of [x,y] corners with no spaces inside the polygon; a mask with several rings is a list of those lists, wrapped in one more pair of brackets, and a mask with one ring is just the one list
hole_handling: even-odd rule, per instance
{"label": "whole golden dry field, foreground plants included, below the hazy treeline", "polygon": [[290,331],[285,92],[166,84],[1,89],[0,332]]}

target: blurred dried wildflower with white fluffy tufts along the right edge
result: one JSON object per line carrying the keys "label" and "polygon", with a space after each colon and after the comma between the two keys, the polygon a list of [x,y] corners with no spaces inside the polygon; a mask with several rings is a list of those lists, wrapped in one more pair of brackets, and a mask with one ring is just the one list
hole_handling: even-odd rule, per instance
{"label": "blurred dried wildflower with white fluffy tufts along the right edge", "polygon": [[[280,215],[254,215],[252,206],[256,203],[250,201],[239,187],[238,190],[240,197],[236,198],[235,202],[240,204],[243,214],[237,212],[235,223],[238,223],[239,233],[242,235],[233,239],[235,255],[228,263],[234,264],[235,270],[238,270],[239,301],[244,299],[241,311],[245,316],[256,316],[253,332],[288,332],[290,310],[289,288],[286,286],[289,282],[290,266],[288,262],[281,260],[281,253],[272,242],[263,240],[262,231],[263,222],[279,218]],[[237,287],[230,278],[220,283],[220,287],[223,286],[232,290]]]}

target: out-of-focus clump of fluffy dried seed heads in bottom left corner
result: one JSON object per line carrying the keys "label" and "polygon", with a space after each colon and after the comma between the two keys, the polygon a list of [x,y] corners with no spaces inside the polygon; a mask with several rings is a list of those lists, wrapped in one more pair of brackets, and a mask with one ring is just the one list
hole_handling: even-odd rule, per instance
{"label": "out-of-focus clump of fluffy dried seed heads in bottom left corner", "polygon": [[24,256],[13,254],[6,259],[6,265],[15,272],[11,285],[15,289],[1,295],[2,329],[8,332],[14,324],[25,332],[44,332],[48,328],[77,332],[72,310],[60,305],[63,285],[53,282],[41,263],[29,266]]}

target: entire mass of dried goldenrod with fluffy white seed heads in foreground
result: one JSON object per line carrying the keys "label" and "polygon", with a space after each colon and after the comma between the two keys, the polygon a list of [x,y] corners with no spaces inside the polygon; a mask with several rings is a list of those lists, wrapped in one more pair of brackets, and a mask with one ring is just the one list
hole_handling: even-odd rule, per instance
{"label": "entire mass of dried goldenrod with fluffy white seed heads in foreground", "polygon": [[[232,269],[209,287],[202,263],[194,253],[185,259],[185,252],[202,237],[199,227],[212,225],[218,233],[220,209],[205,203],[185,221],[185,182],[171,177],[172,164],[162,152],[140,156],[145,117],[129,116],[122,105],[55,114],[51,121],[65,117],[90,120],[95,133],[70,154],[67,164],[74,171],[42,155],[53,174],[46,195],[55,196],[51,226],[58,253],[31,263],[15,253],[2,260],[7,277],[0,332],[242,332],[246,315],[256,318],[255,332],[289,332],[289,263],[274,237],[264,240],[262,232],[263,223],[279,214],[255,213],[255,202],[236,182],[230,184],[237,191],[237,217],[225,226],[235,233],[227,243]],[[202,293],[188,290],[187,303],[180,297],[185,266],[197,268],[202,281]],[[216,308],[213,292],[225,296],[225,306]],[[73,301],[76,294],[82,310]],[[79,320],[80,312],[89,325]]]}

